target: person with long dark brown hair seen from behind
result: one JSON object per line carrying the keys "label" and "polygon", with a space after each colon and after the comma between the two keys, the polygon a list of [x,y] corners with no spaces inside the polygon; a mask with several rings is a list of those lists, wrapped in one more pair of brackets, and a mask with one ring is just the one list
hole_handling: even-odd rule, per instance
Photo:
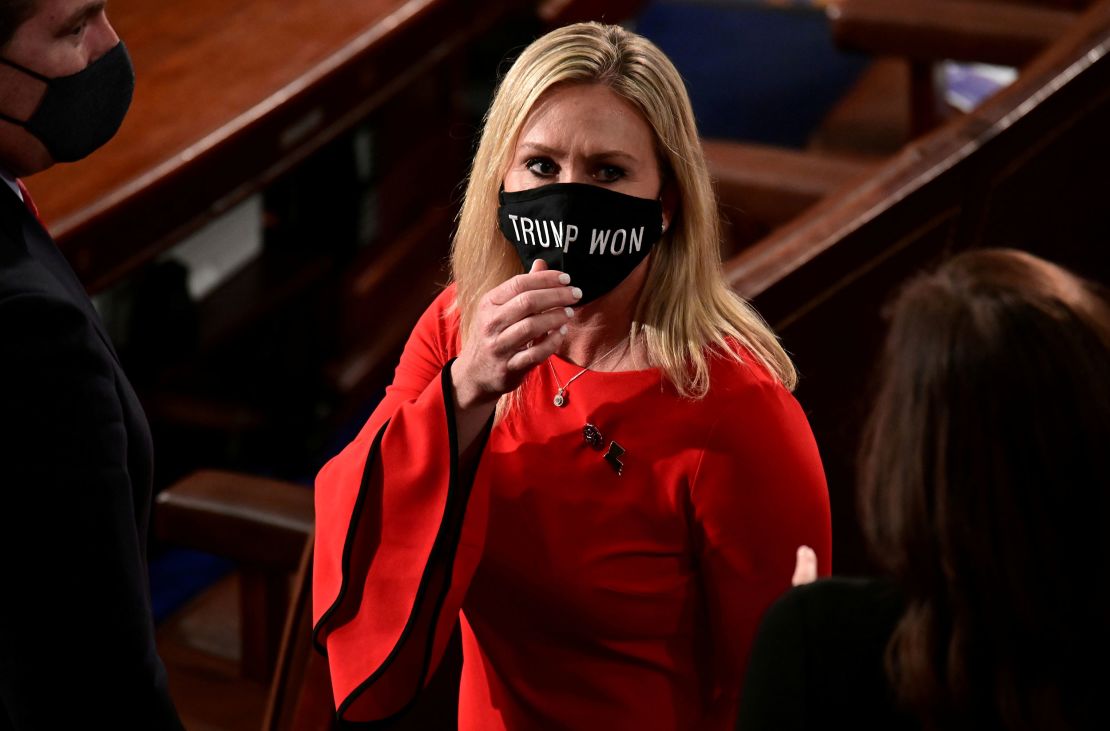
{"label": "person with long dark brown hair seen from behind", "polygon": [[1029,254],[898,298],[861,450],[884,580],[767,613],[738,728],[1110,728],[1110,305]]}

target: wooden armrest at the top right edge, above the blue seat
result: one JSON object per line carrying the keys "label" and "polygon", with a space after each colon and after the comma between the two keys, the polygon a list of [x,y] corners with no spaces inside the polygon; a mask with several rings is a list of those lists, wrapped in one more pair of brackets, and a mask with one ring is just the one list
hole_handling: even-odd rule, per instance
{"label": "wooden armrest at the top right edge, above the blue seat", "polygon": [[837,0],[836,44],[916,61],[952,59],[1019,67],[1071,27],[1077,13],[966,0]]}

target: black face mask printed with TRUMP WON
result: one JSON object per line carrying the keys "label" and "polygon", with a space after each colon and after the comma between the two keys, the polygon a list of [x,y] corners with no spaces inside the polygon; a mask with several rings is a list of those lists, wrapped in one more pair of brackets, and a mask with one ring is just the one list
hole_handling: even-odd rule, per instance
{"label": "black face mask printed with TRUMP WON", "polygon": [[612,292],[663,235],[663,205],[586,183],[501,192],[501,232],[531,271],[542,258],[582,290],[578,305]]}

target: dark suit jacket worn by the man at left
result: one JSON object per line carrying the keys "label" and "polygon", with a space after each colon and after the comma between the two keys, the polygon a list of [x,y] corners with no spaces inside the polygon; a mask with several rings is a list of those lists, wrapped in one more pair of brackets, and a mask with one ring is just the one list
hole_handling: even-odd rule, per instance
{"label": "dark suit jacket worn by the man at left", "polygon": [[0,182],[0,731],[181,729],[150,610],[152,471],[92,303]]}

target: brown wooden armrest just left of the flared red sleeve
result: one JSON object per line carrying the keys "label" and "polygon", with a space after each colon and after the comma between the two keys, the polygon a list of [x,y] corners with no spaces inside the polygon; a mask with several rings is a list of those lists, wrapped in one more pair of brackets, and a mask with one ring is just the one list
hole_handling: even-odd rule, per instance
{"label": "brown wooden armrest just left of the flared red sleeve", "polygon": [[296,569],[313,529],[312,490],[280,480],[201,470],[162,490],[163,540],[262,569]]}

